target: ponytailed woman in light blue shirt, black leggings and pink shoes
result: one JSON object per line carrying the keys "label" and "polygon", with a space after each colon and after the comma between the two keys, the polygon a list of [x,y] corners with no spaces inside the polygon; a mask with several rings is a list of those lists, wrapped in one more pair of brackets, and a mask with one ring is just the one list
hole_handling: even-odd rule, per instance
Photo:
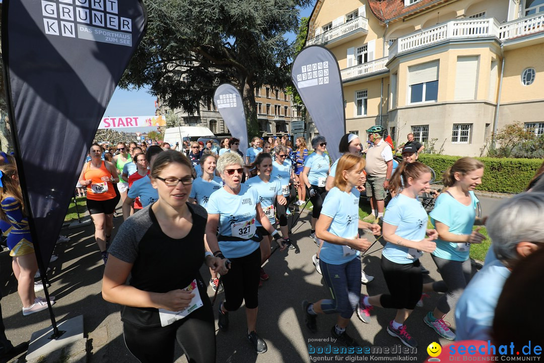
{"label": "ponytailed woman in light blue shirt, black leggings and pink shoes", "polygon": [[[404,180],[404,187],[401,181]],[[417,196],[429,188],[431,172],[424,164],[402,162],[391,178],[390,188],[398,194],[387,205],[383,235],[387,241],[381,257],[381,269],[389,294],[361,296],[357,316],[370,322],[373,306],[397,309],[388,324],[387,333],[398,337],[407,347],[417,347],[416,340],[406,330],[406,319],[421,298],[423,274],[419,257],[436,249],[438,233],[426,229],[427,213]],[[425,237],[428,236],[428,237]]]}

